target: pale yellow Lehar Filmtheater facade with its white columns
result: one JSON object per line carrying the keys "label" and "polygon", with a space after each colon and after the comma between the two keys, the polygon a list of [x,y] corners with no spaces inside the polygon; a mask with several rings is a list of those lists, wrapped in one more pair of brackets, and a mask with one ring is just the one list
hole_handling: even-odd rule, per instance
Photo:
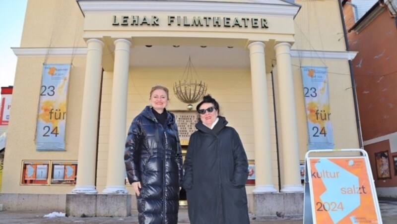
{"label": "pale yellow Lehar Filmtheater facade with its white columns", "polygon": [[[30,208],[11,205],[15,195],[42,203],[48,199],[40,195],[57,197],[53,207],[65,209],[66,194],[131,194],[127,128],[157,84],[170,89],[167,110],[188,112],[172,88],[189,57],[255,163],[250,209],[260,195],[303,200],[309,134],[302,66],[328,69],[333,148],[360,146],[349,68],[356,53],[343,40],[333,0],[29,0],[21,46],[13,48],[3,206]],[[62,151],[36,149],[43,63],[71,64]],[[27,164],[48,166],[47,180],[26,181]],[[56,166],[73,166],[75,181],[53,182]]]}

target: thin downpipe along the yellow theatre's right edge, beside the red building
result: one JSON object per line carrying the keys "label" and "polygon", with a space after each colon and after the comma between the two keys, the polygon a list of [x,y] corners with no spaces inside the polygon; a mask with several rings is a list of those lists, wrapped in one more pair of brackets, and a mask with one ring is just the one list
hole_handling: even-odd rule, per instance
{"label": "thin downpipe along the yellow theatre's right edge, beside the red building", "polygon": [[[338,0],[338,2],[339,2],[340,18],[341,18],[341,22],[342,22],[342,26],[343,26],[344,42],[346,45],[346,51],[349,52],[350,48],[349,48],[349,42],[347,40],[346,24],[344,23],[344,18],[343,18],[342,2],[341,2],[341,0]],[[357,103],[356,83],[354,81],[353,65],[352,65],[351,59],[349,59],[348,61],[349,61],[349,69],[350,69],[351,87],[352,87],[352,91],[353,91],[354,111],[356,113],[358,142],[359,142],[360,149],[364,149],[363,137],[362,137],[362,131],[361,131],[361,123],[360,123],[360,113],[358,111],[358,103]]]}

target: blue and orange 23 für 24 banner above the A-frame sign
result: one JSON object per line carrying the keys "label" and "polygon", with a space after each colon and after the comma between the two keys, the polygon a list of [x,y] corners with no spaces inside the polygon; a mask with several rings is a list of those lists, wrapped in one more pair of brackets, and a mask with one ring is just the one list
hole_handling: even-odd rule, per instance
{"label": "blue and orange 23 f\u00fcr 24 banner above the A-frame sign", "polygon": [[308,150],[333,149],[327,67],[302,66]]}

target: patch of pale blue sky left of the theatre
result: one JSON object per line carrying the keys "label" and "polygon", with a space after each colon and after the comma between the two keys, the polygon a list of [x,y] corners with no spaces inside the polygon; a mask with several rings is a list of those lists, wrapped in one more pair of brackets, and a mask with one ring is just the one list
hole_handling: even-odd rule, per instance
{"label": "patch of pale blue sky left of the theatre", "polygon": [[11,47],[20,47],[27,0],[0,0],[0,87],[14,85],[17,56]]}

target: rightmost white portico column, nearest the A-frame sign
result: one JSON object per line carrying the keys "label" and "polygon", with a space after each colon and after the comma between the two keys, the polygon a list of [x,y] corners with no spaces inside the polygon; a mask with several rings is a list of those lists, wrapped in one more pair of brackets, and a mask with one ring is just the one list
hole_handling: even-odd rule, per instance
{"label": "rightmost white portico column, nearest the A-frame sign", "polygon": [[280,97],[283,185],[281,192],[302,192],[299,171],[299,143],[296,121],[294,80],[292,77],[291,45],[274,46],[277,59],[278,95]]}

